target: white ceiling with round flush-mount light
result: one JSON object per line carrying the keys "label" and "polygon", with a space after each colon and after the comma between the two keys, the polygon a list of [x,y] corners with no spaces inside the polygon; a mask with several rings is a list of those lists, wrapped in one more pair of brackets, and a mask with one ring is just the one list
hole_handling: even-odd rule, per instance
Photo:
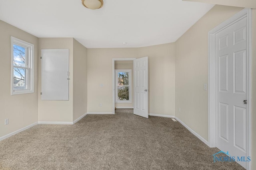
{"label": "white ceiling with round flush-mount light", "polygon": [[[36,37],[74,37],[87,48],[175,42],[214,5],[182,0],[0,0],[0,20]],[[126,45],[122,43],[126,42]]]}

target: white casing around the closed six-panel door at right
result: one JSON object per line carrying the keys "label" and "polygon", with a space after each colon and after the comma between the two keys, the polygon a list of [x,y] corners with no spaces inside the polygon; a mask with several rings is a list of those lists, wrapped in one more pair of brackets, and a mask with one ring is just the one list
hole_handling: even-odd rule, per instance
{"label": "white casing around the closed six-panel door at right", "polygon": [[[247,18],[247,117],[246,117],[246,136],[247,136],[247,156],[251,156],[251,98],[252,98],[252,21],[251,9],[244,8],[228,20],[208,32],[208,145],[216,147],[216,61],[215,61],[215,37],[223,29],[234,23]],[[238,155],[239,156],[239,155]],[[247,170],[251,169],[251,161],[247,162]]]}

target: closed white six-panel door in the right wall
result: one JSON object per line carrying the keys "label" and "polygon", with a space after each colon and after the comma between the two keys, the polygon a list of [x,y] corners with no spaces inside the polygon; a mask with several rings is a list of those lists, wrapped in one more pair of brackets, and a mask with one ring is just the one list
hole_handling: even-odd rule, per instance
{"label": "closed white six-panel door in the right wall", "polygon": [[[247,19],[216,34],[216,147],[247,153]],[[246,162],[238,162],[246,167]]]}

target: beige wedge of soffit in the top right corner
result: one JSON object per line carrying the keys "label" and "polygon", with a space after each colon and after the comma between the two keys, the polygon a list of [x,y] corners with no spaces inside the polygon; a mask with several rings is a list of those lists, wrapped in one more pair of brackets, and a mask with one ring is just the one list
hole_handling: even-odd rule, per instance
{"label": "beige wedge of soffit in the top right corner", "polygon": [[184,0],[192,2],[203,2],[209,4],[237,6],[244,8],[256,8],[256,0]]}

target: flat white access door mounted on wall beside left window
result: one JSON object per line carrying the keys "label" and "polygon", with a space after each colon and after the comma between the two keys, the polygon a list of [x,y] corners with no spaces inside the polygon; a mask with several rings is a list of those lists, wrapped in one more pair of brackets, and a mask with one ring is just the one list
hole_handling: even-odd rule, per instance
{"label": "flat white access door mounted on wall beside left window", "polygon": [[69,49],[42,49],[41,100],[69,100]]}

